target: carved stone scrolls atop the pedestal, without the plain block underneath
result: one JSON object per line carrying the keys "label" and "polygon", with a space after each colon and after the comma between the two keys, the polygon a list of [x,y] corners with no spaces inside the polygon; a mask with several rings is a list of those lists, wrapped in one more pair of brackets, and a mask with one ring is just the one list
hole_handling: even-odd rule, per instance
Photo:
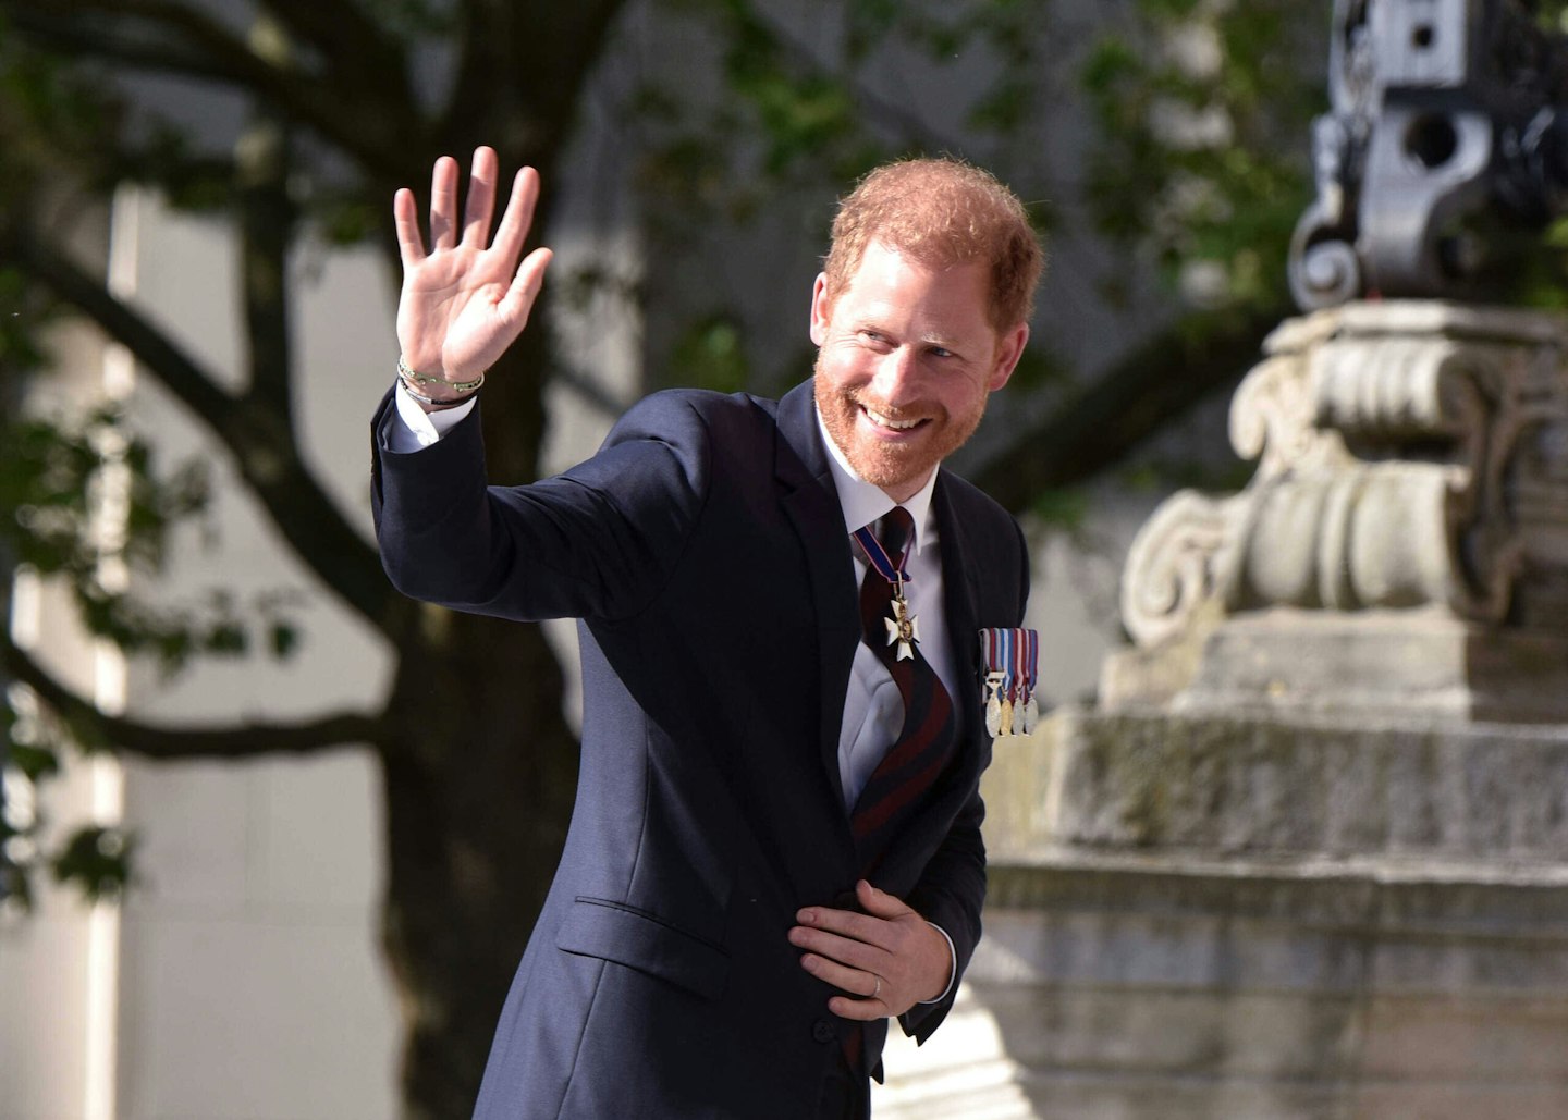
{"label": "carved stone scrolls atop the pedestal, without the plain block underneath", "polygon": [[1279,611],[1319,634],[1375,612],[1383,636],[1402,614],[1568,636],[1568,320],[1350,304],[1265,351],[1231,403],[1253,479],[1171,497],[1127,556],[1145,658]]}

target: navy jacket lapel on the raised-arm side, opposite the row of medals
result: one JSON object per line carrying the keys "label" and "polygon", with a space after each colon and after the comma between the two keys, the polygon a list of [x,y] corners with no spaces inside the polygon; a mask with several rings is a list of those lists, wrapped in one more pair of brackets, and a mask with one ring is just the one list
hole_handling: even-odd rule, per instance
{"label": "navy jacket lapel on the raised-arm side, opposite the row of medals", "polygon": [[859,608],[850,536],[844,528],[844,509],[833,486],[828,453],[817,431],[812,382],[797,385],[779,401],[778,428],[775,478],[779,501],[800,536],[817,609],[817,680],[822,705],[817,749],[837,805],[842,807],[839,727],[844,722],[844,697],[848,692],[855,647],[861,641]]}

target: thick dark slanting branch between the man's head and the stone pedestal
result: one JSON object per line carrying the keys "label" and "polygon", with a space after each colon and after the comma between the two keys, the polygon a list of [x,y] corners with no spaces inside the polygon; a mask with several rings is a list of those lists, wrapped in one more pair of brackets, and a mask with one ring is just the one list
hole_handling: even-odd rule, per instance
{"label": "thick dark slanting branch between the man's head and the stone pedestal", "polygon": [[1281,299],[1182,316],[1062,401],[974,482],[1021,514],[1043,492],[1093,478],[1207,393],[1234,384],[1286,313]]}

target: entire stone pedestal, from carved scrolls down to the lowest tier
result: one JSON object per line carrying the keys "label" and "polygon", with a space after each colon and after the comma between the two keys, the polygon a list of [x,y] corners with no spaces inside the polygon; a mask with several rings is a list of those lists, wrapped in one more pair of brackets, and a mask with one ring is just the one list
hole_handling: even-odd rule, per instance
{"label": "entire stone pedestal, from carved scrolls down to the lowest tier", "polygon": [[1565,356],[1427,302],[1273,335],[1258,475],[1140,533],[1098,708],[996,744],[971,1059],[894,1054],[886,1117],[1568,1117]]}

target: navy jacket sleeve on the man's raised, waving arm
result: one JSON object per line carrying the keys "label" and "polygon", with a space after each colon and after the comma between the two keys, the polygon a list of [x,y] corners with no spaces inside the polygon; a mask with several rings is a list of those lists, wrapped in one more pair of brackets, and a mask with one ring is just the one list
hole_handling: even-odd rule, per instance
{"label": "navy jacket sleeve on the man's raised, waving arm", "polygon": [[381,562],[412,598],[511,619],[622,619],[663,586],[701,512],[709,440],[673,393],[637,404],[586,462],[530,486],[486,486],[480,409],[398,454],[372,425]]}

